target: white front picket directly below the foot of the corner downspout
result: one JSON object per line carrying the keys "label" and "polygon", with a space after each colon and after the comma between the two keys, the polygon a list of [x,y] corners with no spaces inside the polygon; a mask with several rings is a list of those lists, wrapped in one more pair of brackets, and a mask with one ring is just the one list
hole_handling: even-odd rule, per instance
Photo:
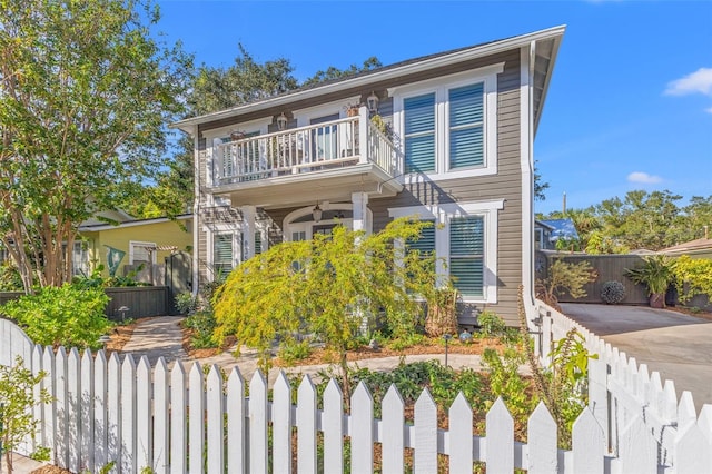
{"label": "white front picket directly below the foot of the corner downspout", "polygon": [[556,422],[540,402],[527,423],[527,473],[555,473],[558,470]]}

